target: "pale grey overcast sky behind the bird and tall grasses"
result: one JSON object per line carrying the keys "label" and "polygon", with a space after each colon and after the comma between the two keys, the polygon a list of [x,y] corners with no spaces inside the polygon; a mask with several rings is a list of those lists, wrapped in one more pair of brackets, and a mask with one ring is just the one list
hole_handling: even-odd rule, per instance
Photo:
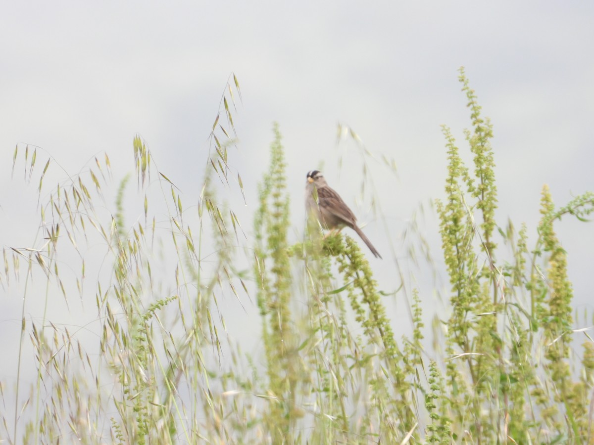
{"label": "pale grey overcast sky behind the bird and tall grasses", "polygon": [[[286,148],[293,233],[302,230],[305,174],[323,166],[328,183],[356,209],[383,254],[383,261],[368,256],[386,291],[399,285],[390,278],[387,240],[395,240],[397,258],[412,268],[406,252],[397,252],[403,233],[419,204],[443,196],[441,124],[451,127],[470,160],[462,133],[470,126],[469,111],[457,81],[461,65],[494,125],[501,225],[508,218],[516,227],[525,221],[534,240],[544,183],[557,205],[594,189],[592,2],[90,5],[4,2],[0,8],[4,248],[31,246],[37,230],[37,202],[24,198],[36,196],[36,181],[24,195],[22,174],[10,177],[16,144],[43,148],[69,174],[106,152],[117,183],[134,171],[132,138],[139,134],[160,171],[179,186],[187,205],[195,205],[207,136],[232,72],[242,102],[234,111],[239,143],[231,163],[247,193],[242,216],[248,234],[276,121]],[[388,234],[370,203],[358,199],[362,166],[353,144],[337,147],[339,122],[353,128],[369,151],[396,161],[397,178],[369,161]],[[593,229],[571,218],[557,229],[569,253],[576,302],[590,314]],[[430,211],[421,231],[443,262]],[[422,269],[411,274],[433,282]],[[444,278],[437,280],[443,284]],[[0,328],[18,333],[18,295],[12,288],[0,293],[2,304],[14,309],[0,317]],[[422,295],[428,310],[432,298]],[[27,312],[39,316],[34,307]],[[583,320],[576,322],[582,326]]]}

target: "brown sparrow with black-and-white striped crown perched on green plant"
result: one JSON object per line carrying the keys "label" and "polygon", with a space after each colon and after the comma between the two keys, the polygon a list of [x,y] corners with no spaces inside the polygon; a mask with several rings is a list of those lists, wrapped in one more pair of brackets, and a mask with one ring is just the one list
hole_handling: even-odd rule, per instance
{"label": "brown sparrow with black-and-white striped crown perched on green plant", "polygon": [[[349,206],[345,204],[345,201],[340,198],[338,193],[327,185],[326,179],[324,179],[324,175],[320,171],[309,171],[305,190],[305,209],[308,216],[313,215],[326,229],[334,230],[338,228],[340,230],[345,225],[352,228],[367,244],[371,253],[377,258],[381,258],[380,253],[375,250],[371,241],[357,227],[357,218],[355,218]],[[317,190],[317,196],[315,190]]]}

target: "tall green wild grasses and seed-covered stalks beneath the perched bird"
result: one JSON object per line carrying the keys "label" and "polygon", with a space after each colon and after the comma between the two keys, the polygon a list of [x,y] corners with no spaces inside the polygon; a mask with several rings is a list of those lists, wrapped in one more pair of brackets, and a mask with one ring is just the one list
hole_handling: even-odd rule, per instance
{"label": "tall green wild grasses and seed-covered stalks beneath the perched bird", "polygon": [[[302,243],[289,243],[287,166],[276,125],[253,228],[244,231],[246,221],[240,224],[216,186],[245,199],[230,160],[241,97],[233,75],[193,214],[140,136],[132,144],[139,196],[132,206],[143,217],[132,224],[129,177],[115,181],[107,155],[49,193],[44,179],[55,162],[46,160],[37,241],[3,251],[0,282],[24,297],[20,337],[8,340],[18,342],[18,354],[5,357],[17,377],[3,376],[0,386],[2,439],[594,443],[594,342],[584,333],[583,350],[571,351],[573,295],[554,231],[561,217],[586,220],[594,194],[558,208],[543,187],[534,246],[526,225],[516,233],[511,222],[498,223],[492,125],[463,69],[460,82],[473,166],[465,166],[444,126],[448,176],[437,213],[451,307],[434,330],[445,332],[445,354],[440,341],[433,349],[423,341],[422,311],[430,311],[432,295],[399,288],[411,292],[413,329],[396,339],[386,296],[358,243],[342,234],[324,238],[315,224]],[[24,161],[31,181],[38,153],[17,145],[13,173]],[[110,205],[106,190],[114,184]],[[88,313],[90,292],[89,323],[53,319],[60,304],[72,313],[86,304]],[[221,295],[257,306],[263,357],[245,354],[226,335]],[[40,318],[27,316],[31,306],[44,307]]]}

